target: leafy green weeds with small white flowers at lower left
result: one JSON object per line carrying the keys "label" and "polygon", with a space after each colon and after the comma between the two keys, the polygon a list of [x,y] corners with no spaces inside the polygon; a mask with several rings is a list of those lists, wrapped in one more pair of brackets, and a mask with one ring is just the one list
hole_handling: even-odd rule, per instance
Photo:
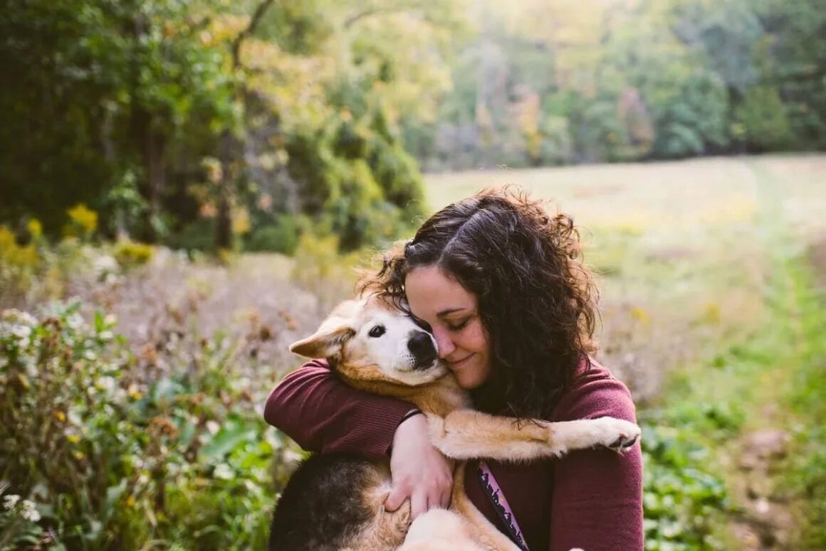
{"label": "leafy green weeds with small white flowers at lower left", "polygon": [[205,342],[195,369],[145,378],[154,349],[133,356],[111,317],[87,323],[80,307],[2,312],[0,492],[37,513],[24,522],[5,507],[4,545],[54,535],[73,549],[263,547],[281,443],[262,440],[263,420],[230,380],[228,342]]}

